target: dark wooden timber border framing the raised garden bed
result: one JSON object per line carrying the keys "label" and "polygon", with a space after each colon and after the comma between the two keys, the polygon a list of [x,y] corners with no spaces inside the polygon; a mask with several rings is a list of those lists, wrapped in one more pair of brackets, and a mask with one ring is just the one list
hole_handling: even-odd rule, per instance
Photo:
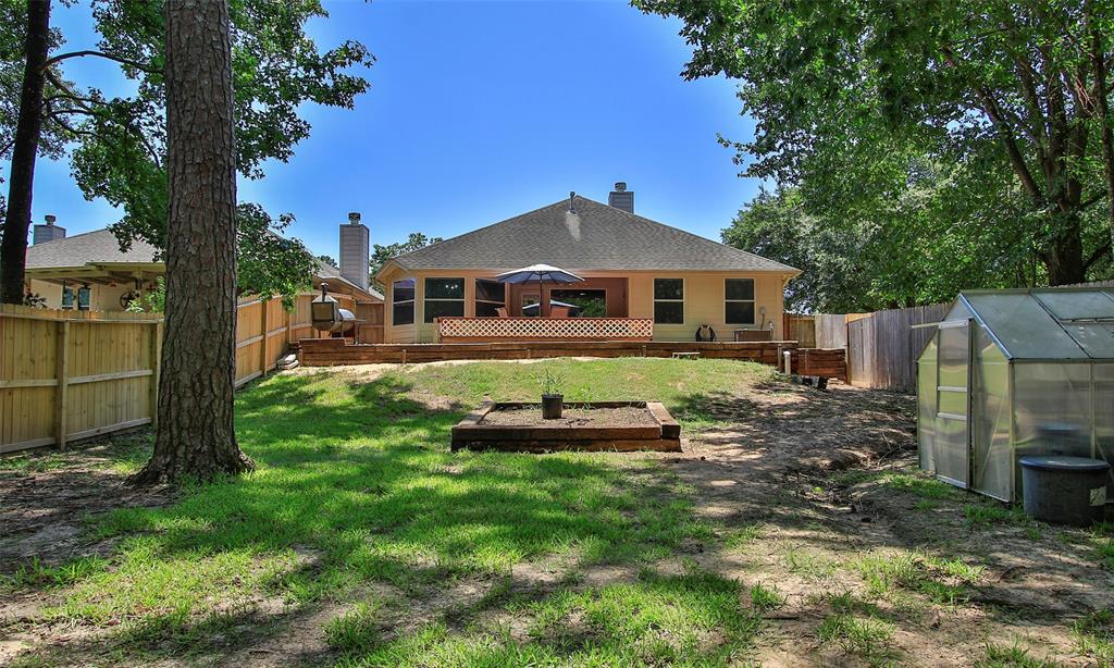
{"label": "dark wooden timber border framing the raised garden bed", "polygon": [[567,409],[642,407],[654,424],[592,426],[569,424],[554,420],[553,425],[486,424],[483,419],[491,411],[537,407],[539,422],[541,404],[522,402],[483,402],[452,428],[452,450],[497,450],[500,452],[634,452],[651,450],[681,452],[681,425],[656,401],[609,402],[597,401],[566,404]]}

